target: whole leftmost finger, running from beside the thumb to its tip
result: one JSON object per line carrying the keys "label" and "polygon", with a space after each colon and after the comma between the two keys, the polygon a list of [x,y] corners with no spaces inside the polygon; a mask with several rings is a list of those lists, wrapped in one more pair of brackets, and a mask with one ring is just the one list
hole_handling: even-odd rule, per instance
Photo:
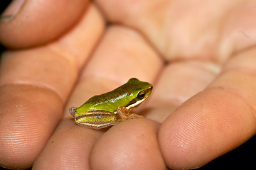
{"label": "whole leftmost finger, running from beside the thumb to its tip", "polygon": [[60,40],[4,53],[0,67],[4,96],[0,98],[1,166],[24,169],[33,164],[62,117],[79,69],[103,28],[102,17],[89,6],[80,23]]}

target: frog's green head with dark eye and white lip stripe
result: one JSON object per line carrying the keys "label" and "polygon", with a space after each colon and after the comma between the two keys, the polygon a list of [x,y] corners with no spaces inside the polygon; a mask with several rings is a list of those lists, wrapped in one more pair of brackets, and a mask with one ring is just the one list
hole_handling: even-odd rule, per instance
{"label": "frog's green head with dark eye and white lip stripe", "polygon": [[129,84],[129,86],[131,87],[133,96],[133,99],[126,106],[128,110],[130,108],[139,106],[140,103],[145,101],[146,98],[149,97],[153,89],[152,84],[144,81],[139,81],[136,78],[129,79],[127,84]]}

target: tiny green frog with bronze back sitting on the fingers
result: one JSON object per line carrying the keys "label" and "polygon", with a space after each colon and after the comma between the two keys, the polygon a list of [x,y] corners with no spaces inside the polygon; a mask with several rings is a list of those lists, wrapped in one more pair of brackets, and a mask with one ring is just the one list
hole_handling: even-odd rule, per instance
{"label": "tiny green frog with bronze back sitting on the fingers", "polygon": [[130,111],[145,101],[152,89],[148,82],[132,78],[117,89],[92,96],[82,106],[72,107],[69,111],[75,117],[75,123],[93,129],[106,128],[127,119],[144,118]]}

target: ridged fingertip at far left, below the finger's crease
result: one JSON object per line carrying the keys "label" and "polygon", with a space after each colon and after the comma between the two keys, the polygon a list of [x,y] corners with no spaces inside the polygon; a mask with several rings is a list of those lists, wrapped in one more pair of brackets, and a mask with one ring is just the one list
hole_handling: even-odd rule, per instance
{"label": "ridged fingertip at far left, below the finger's crease", "polygon": [[53,133],[63,103],[50,91],[31,86],[1,86],[0,94],[0,165],[27,169]]}

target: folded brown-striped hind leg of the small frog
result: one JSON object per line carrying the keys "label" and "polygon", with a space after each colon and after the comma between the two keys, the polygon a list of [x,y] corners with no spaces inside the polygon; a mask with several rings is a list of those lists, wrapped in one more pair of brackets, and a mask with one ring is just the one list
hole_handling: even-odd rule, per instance
{"label": "folded brown-striped hind leg of the small frog", "polygon": [[101,129],[119,123],[119,118],[112,112],[91,111],[85,115],[78,115],[75,118],[75,123],[94,129]]}

